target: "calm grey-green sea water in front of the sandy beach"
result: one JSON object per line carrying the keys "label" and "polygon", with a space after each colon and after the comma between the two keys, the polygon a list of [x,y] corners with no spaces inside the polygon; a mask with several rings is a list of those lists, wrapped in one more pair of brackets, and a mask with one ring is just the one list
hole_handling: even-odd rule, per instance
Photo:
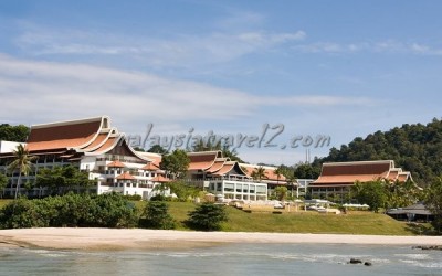
{"label": "calm grey-green sea water in front of the sandy beach", "polygon": [[442,252],[262,243],[113,252],[0,247],[0,275],[442,275]]}

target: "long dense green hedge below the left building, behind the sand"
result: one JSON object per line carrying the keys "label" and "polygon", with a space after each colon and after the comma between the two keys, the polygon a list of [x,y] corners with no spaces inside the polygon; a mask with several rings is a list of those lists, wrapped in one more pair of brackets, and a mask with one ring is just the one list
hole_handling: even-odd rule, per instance
{"label": "long dense green hedge below the left building, behind the sand", "polygon": [[21,198],[0,210],[1,229],[131,227],[137,221],[135,205],[116,193],[95,198],[74,193],[39,200]]}

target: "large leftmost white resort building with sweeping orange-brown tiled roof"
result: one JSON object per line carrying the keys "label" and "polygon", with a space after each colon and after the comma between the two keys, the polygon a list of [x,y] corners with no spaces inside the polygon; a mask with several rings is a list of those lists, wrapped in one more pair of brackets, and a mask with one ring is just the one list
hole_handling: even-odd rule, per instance
{"label": "large leftmost white resort building with sweeping orange-brown tiled roof", "polygon": [[[13,146],[18,144],[2,145],[8,146],[8,150],[0,152],[0,171],[7,172],[7,166],[13,159]],[[160,157],[135,151],[127,145],[125,135],[110,126],[106,116],[31,126],[24,146],[38,159],[32,173],[23,182],[35,181],[41,168],[73,164],[87,171],[90,179],[96,181],[92,192],[115,191],[148,199],[155,194],[155,185],[169,181],[159,169]],[[18,173],[13,173],[4,190],[6,195],[13,194],[17,181]],[[23,185],[21,189],[24,192]],[[38,197],[45,192],[44,188],[34,187],[28,194]]]}

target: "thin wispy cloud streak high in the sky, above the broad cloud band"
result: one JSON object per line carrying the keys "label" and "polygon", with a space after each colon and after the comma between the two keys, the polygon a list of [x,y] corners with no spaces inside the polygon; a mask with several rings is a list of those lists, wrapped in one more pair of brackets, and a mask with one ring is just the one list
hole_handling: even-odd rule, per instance
{"label": "thin wispy cloud streak high in the sky, above the broad cloud band", "polygon": [[172,67],[224,63],[246,54],[302,41],[306,36],[304,31],[253,30],[212,31],[198,35],[182,33],[158,38],[148,33],[116,35],[98,30],[57,30],[31,23],[23,23],[22,30],[15,43],[33,55],[119,55],[152,66]]}

